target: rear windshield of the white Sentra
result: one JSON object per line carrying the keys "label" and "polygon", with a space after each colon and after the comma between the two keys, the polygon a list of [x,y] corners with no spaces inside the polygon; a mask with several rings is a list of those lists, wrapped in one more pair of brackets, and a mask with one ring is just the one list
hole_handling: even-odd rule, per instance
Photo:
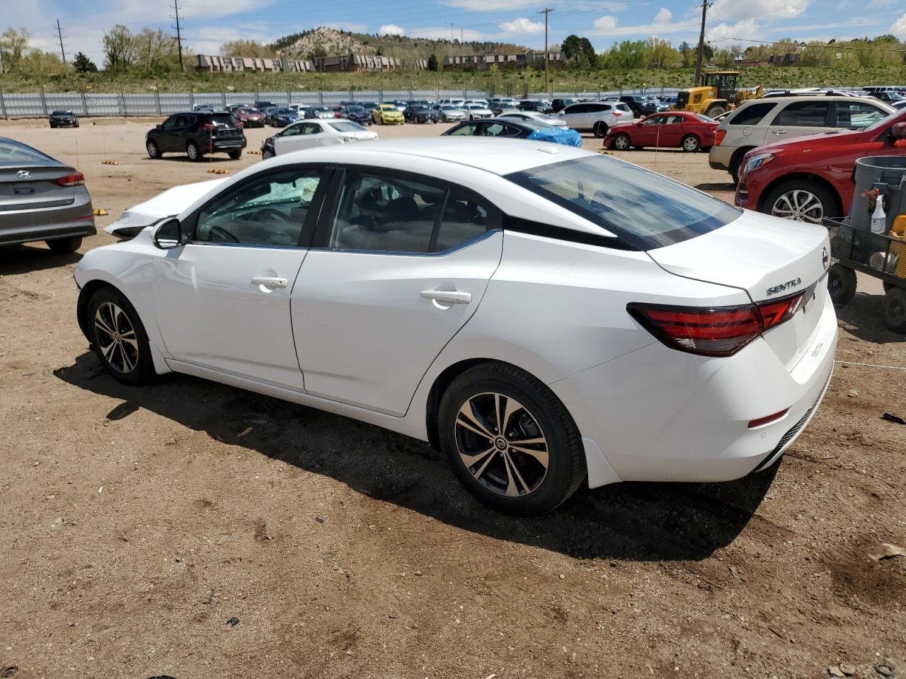
{"label": "rear windshield of the white Sentra", "polygon": [[575,158],[506,178],[641,250],[707,234],[742,215],[717,198],[616,158]]}

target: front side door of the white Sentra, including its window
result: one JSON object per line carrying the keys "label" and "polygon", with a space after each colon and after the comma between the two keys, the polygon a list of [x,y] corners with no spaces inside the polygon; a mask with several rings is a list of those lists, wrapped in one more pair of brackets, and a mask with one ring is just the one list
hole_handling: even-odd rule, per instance
{"label": "front side door of the white Sentra, including its window", "polygon": [[303,390],[290,295],[331,172],[257,174],[184,219],[188,244],[154,264],[154,309],[173,359]]}

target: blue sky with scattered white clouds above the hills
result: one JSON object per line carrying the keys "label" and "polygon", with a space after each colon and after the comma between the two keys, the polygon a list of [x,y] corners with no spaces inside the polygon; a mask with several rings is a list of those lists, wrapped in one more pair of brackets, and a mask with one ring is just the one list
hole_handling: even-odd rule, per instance
{"label": "blue sky with scattered white clouds above the hills", "polygon": [[[101,37],[113,24],[169,30],[172,0],[0,0],[0,30],[25,26],[34,43],[59,49],[55,20],[63,25],[67,54],[79,50],[100,61]],[[545,6],[550,42],[570,33],[588,36],[599,51],[614,41],[658,35],[674,44],[698,40],[697,0],[181,0],[184,36],[196,53],[217,53],[236,38],[269,42],[287,33],[328,25],[363,33],[467,40],[504,40],[543,48]],[[904,0],[714,0],[708,39],[846,39],[894,33],[906,39]],[[745,43],[744,43],[745,44]]]}

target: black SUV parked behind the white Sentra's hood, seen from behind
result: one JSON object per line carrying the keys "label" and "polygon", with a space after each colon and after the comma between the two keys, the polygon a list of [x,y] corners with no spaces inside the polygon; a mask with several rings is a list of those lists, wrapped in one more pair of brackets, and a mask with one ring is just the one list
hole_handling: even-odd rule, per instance
{"label": "black SUV parked behind the white Sentra's hood, seen from behind", "polygon": [[150,158],[164,153],[185,153],[189,160],[201,160],[206,153],[228,153],[236,160],[246,148],[246,134],[229,113],[189,111],[176,113],[145,135]]}

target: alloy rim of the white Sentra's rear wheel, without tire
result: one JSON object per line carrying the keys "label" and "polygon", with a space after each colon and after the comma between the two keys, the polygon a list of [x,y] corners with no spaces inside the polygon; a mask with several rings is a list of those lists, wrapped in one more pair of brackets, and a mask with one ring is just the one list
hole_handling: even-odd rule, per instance
{"label": "alloy rim of the white Sentra's rear wheel, without tire", "polygon": [[545,480],[547,439],[535,416],[515,398],[470,397],[459,408],[454,435],[468,473],[493,493],[525,496]]}

